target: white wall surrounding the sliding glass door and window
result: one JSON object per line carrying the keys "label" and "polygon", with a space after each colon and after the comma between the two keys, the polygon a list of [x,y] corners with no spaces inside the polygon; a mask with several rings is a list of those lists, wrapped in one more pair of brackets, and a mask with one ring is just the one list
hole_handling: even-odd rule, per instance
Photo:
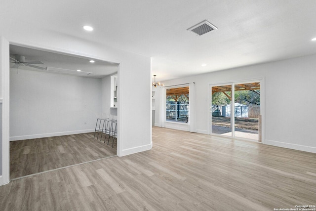
{"label": "white wall surrounding the sliding glass door and window", "polygon": [[316,55],[310,55],[164,81],[164,84],[196,83],[197,131],[207,133],[208,84],[264,78],[263,142],[316,153],[315,67]]}

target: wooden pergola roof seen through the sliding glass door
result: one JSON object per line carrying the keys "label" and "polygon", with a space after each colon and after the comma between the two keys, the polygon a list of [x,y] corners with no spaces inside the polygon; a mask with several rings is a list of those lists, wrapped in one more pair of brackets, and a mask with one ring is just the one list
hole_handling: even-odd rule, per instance
{"label": "wooden pergola roof seen through the sliding glass door", "polygon": [[[247,84],[235,84],[235,91],[245,91],[250,90],[260,95],[260,92],[256,90],[260,90],[260,83],[247,83]],[[212,86],[212,95],[216,92],[224,93],[230,100],[232,100],[232,92],[228,95],[226,92],[232,91],[232,85],[219,85],[219,86]]]}

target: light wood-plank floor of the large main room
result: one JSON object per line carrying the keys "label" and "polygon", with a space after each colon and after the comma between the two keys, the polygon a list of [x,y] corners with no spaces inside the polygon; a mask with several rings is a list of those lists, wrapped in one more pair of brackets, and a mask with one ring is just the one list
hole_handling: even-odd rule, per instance
{"label": "light wood-plank floor of the large main room", "polygon": [[153,128],[153,149],[0,187],[2,210],[273,211],[316,204],[316,154]]}

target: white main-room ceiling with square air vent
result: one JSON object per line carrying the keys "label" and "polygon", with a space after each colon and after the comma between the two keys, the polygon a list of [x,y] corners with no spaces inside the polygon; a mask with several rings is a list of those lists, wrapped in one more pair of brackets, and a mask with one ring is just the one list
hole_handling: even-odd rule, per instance
{"label": "white main-room ceiling with square air vent", "polygon": [[[316,53],[316,0],[7,0],[1,10],[12,27],[151,56],[152,74],[162,82]],[[203,20],[218,30],[187,31]]]}

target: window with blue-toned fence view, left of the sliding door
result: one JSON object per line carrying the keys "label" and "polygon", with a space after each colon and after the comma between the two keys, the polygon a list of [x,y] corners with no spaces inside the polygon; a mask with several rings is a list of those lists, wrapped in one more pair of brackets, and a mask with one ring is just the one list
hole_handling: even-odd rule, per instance
{"label": "window with blue-toned fence view, left of the sliding door", "polygon": [[189,86],[166,89],[166,121],[188,123]]}

